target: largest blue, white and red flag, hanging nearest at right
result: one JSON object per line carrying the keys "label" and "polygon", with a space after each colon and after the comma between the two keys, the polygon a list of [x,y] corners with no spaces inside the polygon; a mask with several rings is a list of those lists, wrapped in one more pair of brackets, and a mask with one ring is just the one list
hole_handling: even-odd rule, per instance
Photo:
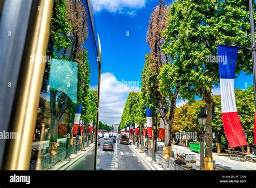
{"label": "largest blue, white and red flag, hanging nearest at right", "polygon": [[238,50],[238,46],[218,45],[221,113],[225,134],[231,148],[248,145],[238,117],[234,94]]}

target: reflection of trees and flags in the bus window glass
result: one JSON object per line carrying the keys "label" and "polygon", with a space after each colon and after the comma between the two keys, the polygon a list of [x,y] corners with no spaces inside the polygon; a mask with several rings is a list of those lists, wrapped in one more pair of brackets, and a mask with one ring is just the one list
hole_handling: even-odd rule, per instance
{"label": "reflection of trees and flags in the bus window glass", "polygon": [[[93,170],[98,99],[97,46],[85,1],[54,1],[30,170],[58,169],[81,152]],[[72,169],[71,169],[72,170]]]}

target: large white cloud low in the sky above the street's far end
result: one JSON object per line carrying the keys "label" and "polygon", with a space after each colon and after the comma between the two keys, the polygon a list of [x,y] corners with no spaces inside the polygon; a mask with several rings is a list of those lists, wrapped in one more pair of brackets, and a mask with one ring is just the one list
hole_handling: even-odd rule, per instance
{"label": "large white cloud low in the sky above the street's far end", "polygon": [[113,73],[103,73],[100,81],[99,120],[106,123],[120,122],[129,92],[139,91],[138,87],[122,85],[120,87]]}

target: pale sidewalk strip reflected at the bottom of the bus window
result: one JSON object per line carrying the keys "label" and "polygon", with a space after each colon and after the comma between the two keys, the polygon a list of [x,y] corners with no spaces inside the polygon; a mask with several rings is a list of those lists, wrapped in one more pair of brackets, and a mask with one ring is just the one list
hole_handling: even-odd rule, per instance
{"label": "pale sidewalk strip reflected at the bottom of the bus window", "polygon": [[95,146],[95,143],[91,144],[89,147],[86,147],[86,151],[77,151],[77,154],[71,154],[70,155],[70,161],[61,161],[57,163],[56,165],[52,166],[51,169],[48,170],[65,170],[68,169],[69,166],[71,166],[73,163],[77,162],[80,158],[85,156],[93,147]]}

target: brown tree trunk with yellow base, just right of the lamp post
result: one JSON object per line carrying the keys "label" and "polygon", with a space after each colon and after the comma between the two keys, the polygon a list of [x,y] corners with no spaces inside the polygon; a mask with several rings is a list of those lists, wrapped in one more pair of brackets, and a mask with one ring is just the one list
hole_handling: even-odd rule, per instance
{"label": "brown tree trunk with yellow base, just right of the lamp post", "polygon": [[206,126],[205,126],[205,170],[213,170],[212,163],[212,96],[211,90],[209,92],[204,92],[203,100],[205,102],[206,109]]}

